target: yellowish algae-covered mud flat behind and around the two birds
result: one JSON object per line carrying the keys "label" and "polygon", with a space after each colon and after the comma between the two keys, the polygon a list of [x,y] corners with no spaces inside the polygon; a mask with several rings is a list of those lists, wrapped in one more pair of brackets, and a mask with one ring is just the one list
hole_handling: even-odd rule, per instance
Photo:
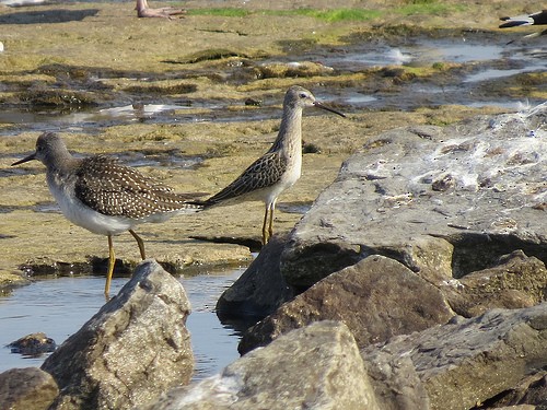
{"label": "yellowish algae-covered mud flat behind and around the two birds", "polygon": [[[190,12],[181,20],[137,19],[132,2],[0,7],[0,40],[5,49],[0,55],[0,105],[4,109],[46,110],[60,116],[135,103],[176,103],[176,108],[161,121],[147,117],[125,122],[0,124],[0,274],[4,278],[0,284],[20,278],[22,266],[28,272],[101,270],[93,268],[92,261],[107,256],[106,238],[70,224],[57,211],[42,164],[10,166],[33,150],[43,130],[60,132],[73,152],[113,154],[129,164],[138,163],[140,156],[136,154],[151,157],[153,161],[140,166],[143,173],[179,191],[213,194],[269,148],[287,87],[309,87],[318,98],[347,113],[348,118],[305,113],[303,134],[309,150],[303,159],[303,175],[280,198],[276,215],[276,232],[283,233],[301,218],[299,210],[313,202],[336,177],[344,160],[368,138],[408,124],[451,124],[477,114],[507,110],[467,104],[473,101],[399,108],[356,108],[337,102],[338,96],[356,90],[398,95],[407,82],[445,81],[465,67],[397,68],[403,71],[386,75],[380,69],[331,72],[317,65],[316,72],[277,72],[269,77],[260,68],[265,59],[288,55],[305,59],[312,50],[344,49],[359,42],[396,44],[409,36],[455,36],[474,31],[504,42],[514,36],[497,30],[498,17],[523,11],[510,1],[440,3],[446,8],[438,13],[401,17],[391,10],[404,7],[403,1],[187,1],[176,5],[189,11],[245,9],[248,14]],[[260,12],[306,7],[361,8],[381,13],[365,21],[330,22],[298,13]],[[543,4],[529,2],[526,7],[535,11]],[[281,66],[283,69],[286,66]],[[510,90],[516,97],[545,98],[545,74],[510,79],[504,80],[499,92]],[[497,86],[492,84],[491,89],[497,91]],[[401,102],[411,99],[412,95],[400,95]],[[186,159],[196,162],[185,166]],[[259,242],[261,218],[263,204],[247,202],[179,216],[167,224],[142,225],[137,232],[146,242],[148,255],[173,271],[191,272],[247,263]],[[139,253],[130,235],[116,237],[115,249],[129,266],[138,261]]]}

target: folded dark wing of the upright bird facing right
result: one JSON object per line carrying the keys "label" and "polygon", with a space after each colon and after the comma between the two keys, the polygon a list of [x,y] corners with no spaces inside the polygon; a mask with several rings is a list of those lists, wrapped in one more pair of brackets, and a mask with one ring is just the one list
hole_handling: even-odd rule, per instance
{"label": "folded dark wing of the upright bird facing right", "polygon": [[281,179],[287,169],[287,160],[279,152],[268,152],[256,160],[232,184],[209,198],[205,204],[211,206],[228,199],[270,187]]}

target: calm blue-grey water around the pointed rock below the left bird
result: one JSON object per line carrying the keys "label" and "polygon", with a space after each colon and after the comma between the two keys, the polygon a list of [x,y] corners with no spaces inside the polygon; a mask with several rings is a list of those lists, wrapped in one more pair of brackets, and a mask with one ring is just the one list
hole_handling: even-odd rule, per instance
{"label": "calm blue-grey water around the pointed rock below the left bird", "polygon": [[[240,355],[241,333],[220,323],[214,306],[220,294],[245,268],[181,278],[191,303],[186,326],[191,335],[196,365],[194,379],[211,376]],[[47,355],[25,358],[11,353],[7,344],[28,333],[43,331],[62,343],[104,304],[104,277],[71,276],[40,279],[0,296],[0,373],[13,367],[40,366]],[[117,293],[128,278],[113,278]]]}

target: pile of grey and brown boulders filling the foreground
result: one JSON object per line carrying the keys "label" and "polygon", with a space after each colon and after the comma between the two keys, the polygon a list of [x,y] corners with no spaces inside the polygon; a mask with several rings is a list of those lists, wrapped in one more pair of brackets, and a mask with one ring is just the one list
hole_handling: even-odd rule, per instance
{"label": "pile of grey and brown boulders filling the foreground", "polygon": [[[270,313],[221,374],[177,387],[191,374],[189,305],[144,261],[46,374],[0,375],[3,402],[544,409],[546,137],[547,105],[380,134],[219,301],[220,314]],[[20,391],[14,378],[34,385]]]}

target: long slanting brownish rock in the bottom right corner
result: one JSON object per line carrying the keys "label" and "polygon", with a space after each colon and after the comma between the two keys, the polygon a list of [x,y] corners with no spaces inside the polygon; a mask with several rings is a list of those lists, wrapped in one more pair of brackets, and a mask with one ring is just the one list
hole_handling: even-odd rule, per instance
{"label": "long slanting brownish rock in the bottom right corner", "polygon": [[[382,409],[400,409],[414,365],[431,409],[470,409],[511,393],[547,363],[547,304],[492,309],[361,350]],[[421,387],[420,387],[421,388]],[[526,405],[527,401],[517,402]],[[516,403],[515,403],[516,405]],[[407,407],[412,408],[414,407]],[[423,407],[426,408],[426,407]]]}

